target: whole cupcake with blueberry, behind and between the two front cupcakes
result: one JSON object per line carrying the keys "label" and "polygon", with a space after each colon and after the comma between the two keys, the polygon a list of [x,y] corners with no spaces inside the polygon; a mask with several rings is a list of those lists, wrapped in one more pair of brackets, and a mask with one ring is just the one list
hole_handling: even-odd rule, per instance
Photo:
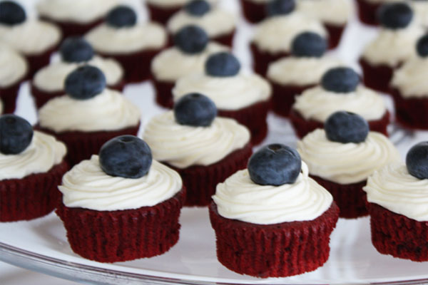
{"label": "whole cupcake with blueberry, behind and between the two front cupcakes", "polygon": [[252,153],[248,129],[216,114],[212,100],[192,93],[145,128],[143,139],[153,157],[183,179],[188,206],[210,204],[215,186],[244,169]]}

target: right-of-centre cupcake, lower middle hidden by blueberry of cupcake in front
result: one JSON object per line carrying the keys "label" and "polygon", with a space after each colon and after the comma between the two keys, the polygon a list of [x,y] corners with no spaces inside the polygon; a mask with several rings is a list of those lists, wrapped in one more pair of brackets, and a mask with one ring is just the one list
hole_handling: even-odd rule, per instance
{"label": "right-of-centre cupcake, lower middle hidden by blueberry of cupcake in front", "polygon": [[295,98],[290,120],[296,134],[303,138],[338,110],[361,115],[370,130],[387,135],[389,112],[382,95],[360,84],[351,68],[332,68],[322,76],[321,85],[305,90]]}

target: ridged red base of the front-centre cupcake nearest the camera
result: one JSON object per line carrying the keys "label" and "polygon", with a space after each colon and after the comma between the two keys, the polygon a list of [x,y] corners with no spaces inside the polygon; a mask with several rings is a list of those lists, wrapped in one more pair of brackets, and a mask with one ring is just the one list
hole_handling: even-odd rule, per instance
{"label": "ridged red base of the front-centre cupcake nearest the camera", "polygon": [[221,217],[214,202],[209,209],[218,261],[239,274],[263,278],[302,274],[322,266],[330,254],[330,234],[339,214],[333,202],[312,221],[262,225]]}

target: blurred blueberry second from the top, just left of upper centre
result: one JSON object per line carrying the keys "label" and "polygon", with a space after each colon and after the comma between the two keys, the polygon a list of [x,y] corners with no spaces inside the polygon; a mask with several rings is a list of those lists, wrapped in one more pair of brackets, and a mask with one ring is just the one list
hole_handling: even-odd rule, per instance
{"label": "blurred blueberry second from the top, just left of upper centre", "polygon": [[175,46],[180,48],[183,53],[195,54],[200,53],[208,45],[208,34],[199,26],[185,26],[175,33]]}

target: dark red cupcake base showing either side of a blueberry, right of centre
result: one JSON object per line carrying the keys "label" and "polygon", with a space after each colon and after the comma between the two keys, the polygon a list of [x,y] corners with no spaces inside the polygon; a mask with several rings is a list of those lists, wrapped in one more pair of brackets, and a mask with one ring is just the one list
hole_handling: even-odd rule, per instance
{"label": "dark red cupcake base showing either side of a blueberry, right of centre", "polygon": [[[324,128],[324,123],[318,122],[317,120],[305,120],[296,110],[291,110],[289,118],[294,128],[295,133],[299,138],[303,138],[308,133],[312,132],[317,128]],[[369,120],[370,130],[377,133],[382,133],[388,136],[387,126],[389,125],[389,112],[384,113],[382,118],[379,120]]]}

